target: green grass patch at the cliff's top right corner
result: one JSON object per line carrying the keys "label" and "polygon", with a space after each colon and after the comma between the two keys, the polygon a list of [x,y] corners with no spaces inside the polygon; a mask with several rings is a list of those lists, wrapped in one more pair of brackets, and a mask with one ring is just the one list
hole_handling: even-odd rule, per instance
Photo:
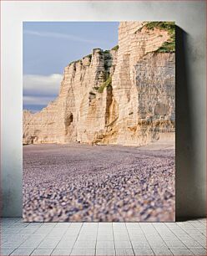
{"label": "green grass patch at the cliff's top right corner", "polygon": [[[150,22],[144,25],[144,27],[149,30],[154,30],[154,28],[159,28],[160,30],[165,30],[169,33],[169,41],[164,42],[162,46],[159,47],[156,53],[174,53],[175,52],[175,23],[174,22]],[[142,28],[144,28],[142,27]],[[142,28],[139,28],[140,31]]]}

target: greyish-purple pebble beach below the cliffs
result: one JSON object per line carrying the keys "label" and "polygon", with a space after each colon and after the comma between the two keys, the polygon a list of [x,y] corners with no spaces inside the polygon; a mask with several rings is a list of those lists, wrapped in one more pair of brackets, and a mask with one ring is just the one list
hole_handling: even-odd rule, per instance
{"label": "greyish-purple pebble beach below the cliffs", "polygon": [[171,222],[174,148],[23,146],[26,222]]}

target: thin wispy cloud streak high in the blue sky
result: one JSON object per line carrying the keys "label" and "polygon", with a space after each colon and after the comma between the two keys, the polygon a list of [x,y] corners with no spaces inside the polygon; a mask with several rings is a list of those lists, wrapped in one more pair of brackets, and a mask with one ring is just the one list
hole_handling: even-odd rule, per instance
{"label": "thin wispy cloud streak high in the blue sky", "polygon": [[38,37],[43,37],[43,38],[63,38],[71,41],[88,43],[88,44],[97,43],[97,41],[95,40],[79,38],[73,34],[68,34],[68,33],[38,32],[38,31],[32,31],[32,30],[24,30],[23,33],[38,36]]}

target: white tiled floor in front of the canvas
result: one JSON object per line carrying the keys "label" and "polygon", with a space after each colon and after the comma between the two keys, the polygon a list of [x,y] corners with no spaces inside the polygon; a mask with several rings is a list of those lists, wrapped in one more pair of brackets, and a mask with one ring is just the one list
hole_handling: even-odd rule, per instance
{"label": "white tiled floor in front of the canvas", "polygon": [[2,218],[0,255],[206,255],[206,220],[23,223]]}

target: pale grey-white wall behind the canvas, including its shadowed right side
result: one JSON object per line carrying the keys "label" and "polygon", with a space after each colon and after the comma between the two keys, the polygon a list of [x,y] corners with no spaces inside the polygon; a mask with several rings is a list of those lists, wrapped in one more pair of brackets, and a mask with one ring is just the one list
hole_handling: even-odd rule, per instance
{"label": "pale grey-white wall behind the canvas, including its shadowed right side", "polygon": [[23,21],[168,21],[177,26],[176,214],[205,214],[204,1],[3,1],[2,172],[3,216],[22,215]]}

